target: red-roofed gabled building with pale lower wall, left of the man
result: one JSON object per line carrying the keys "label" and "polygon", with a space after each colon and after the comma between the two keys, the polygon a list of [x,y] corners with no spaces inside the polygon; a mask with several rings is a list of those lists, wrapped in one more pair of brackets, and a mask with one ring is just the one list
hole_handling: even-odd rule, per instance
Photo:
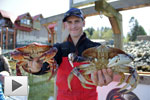
{"label": "red-roofed gabled building with pale lower wall, left of the man", "polygon": [[32,42],[49,44],[49,33],[46,27],[42,26],[41,14],[31,17],[29,13],[18,16],[15,20],[16,47],[24,46]]}

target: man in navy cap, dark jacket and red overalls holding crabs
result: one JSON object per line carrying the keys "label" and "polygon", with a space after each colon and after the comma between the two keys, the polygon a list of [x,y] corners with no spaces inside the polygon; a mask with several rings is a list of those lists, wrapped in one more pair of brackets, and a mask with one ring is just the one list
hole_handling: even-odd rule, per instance
{"label": "man in navy cap, dark jacket and red overalls holding crabs", "polygon": [[[54,46],[57,47],[58,52],[55,56],[59,68],[57,72],[56,85],[58,87],[57,100],[96,100],[97,92],[96,86],[90,86],[92,89],[85,89],[81,86],[80,81],[74,77],[71,81],[72,91],[69,90],[67,84],[67,77],[72,70],[72,67],[68,61],[68,54],[75,53],[81,56],[85,49],[98,46],[100,44],[90,41],[86,34],[83,32],[85,21],[80,9],[71,8],[64,15],[63,22],[65,28],[69,31],[67,40],[63,43],[57,43]],[[74,66],[79,66],[82,63],[75,63]],[[38,58],[28,63],[29,67],[33,68],[40,75],[48,70],[47,63],[43,65],[38,63]],[[42,66],[42,67],[41,67]],[[35,71],[34,71],[35,72]],[[113,73],[110,69],[102,69],[93,73],[93,82],[99,86],[104,86],[112,81]]]}

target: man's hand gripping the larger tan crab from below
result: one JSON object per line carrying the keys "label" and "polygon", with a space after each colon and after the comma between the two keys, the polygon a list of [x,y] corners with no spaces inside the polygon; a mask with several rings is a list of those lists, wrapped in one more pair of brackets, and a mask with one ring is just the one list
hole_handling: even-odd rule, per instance
{"label": "man's hand gripping the larger tan crab from below", "polygon": [[106,86],[113,81],[113,72],[111,69],[102,69],[92,74],[92,81],[98,86]]}

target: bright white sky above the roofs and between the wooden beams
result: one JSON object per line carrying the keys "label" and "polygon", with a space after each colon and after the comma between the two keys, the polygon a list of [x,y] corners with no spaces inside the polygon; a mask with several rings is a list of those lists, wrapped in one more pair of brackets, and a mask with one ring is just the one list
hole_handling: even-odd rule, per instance
{"label": "bright white sky above the roofs and between the wooden beams", "polygon": [[[0,0],[0,9],[17,16],[29,12],[31,16],[42,14],[44,18],[66,12],[69,9],[69,0]],[[150,35],[150,7],[121,11],[124,36],[130,31],[129,20],[133,16]],[[108,18],[104,15],[87,17],[85,28],[95,29],[111,27]]]}

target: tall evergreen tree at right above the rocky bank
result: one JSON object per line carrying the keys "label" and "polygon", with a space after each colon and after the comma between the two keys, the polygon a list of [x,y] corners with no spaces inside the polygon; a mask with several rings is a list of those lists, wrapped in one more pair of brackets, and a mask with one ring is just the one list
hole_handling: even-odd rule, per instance
{"label": "tall evergreen tree at right above the rocky bank", "polygon": [[129,21],[129,27],[131,31],[128,33],[128,37],[130,41],[135,41],[138,35],[146,35],[144,28],[139,25],[138,21],[131,17]]}

